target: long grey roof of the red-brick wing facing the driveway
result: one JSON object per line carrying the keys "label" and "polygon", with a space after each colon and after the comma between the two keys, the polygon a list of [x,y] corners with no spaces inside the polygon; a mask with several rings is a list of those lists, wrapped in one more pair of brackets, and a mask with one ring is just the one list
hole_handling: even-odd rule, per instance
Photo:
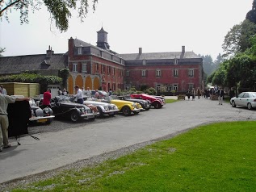
{"label": "long grey roof of the red-brick wing facing the driveway", "polygon": [[195,59],[200,58],[195,52],[145,52],[145,53],[130,53],[118,54],[125,61],[134,60],[165,60],[165,59]]}

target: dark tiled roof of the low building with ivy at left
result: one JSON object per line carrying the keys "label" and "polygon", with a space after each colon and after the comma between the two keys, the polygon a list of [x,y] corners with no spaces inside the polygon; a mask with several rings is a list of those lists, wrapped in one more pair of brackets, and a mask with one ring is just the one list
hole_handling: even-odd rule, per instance
{"label": "dark tiled roof of the low building with ivy at left", "polygon": [[46,54],[0,57],[0,74],[14,74],[28,70],[63,69],[65,66],[67,66],[67,55],[65,54],[53,54],[48,58]]}

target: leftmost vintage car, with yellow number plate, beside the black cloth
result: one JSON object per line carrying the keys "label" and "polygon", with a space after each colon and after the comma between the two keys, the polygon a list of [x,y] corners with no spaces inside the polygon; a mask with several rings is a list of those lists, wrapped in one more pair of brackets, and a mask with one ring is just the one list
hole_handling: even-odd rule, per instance
{"label": "leftmost vintage car, with yellow number plate, beside the black cloth", "polygon": [[36,106],[34,99],[29,101],[31,107],[31,118],[29,119],[30,123],[51,123],[52,119],[55,117],[53,111],[49,107],[41,109],[39,106]]}

